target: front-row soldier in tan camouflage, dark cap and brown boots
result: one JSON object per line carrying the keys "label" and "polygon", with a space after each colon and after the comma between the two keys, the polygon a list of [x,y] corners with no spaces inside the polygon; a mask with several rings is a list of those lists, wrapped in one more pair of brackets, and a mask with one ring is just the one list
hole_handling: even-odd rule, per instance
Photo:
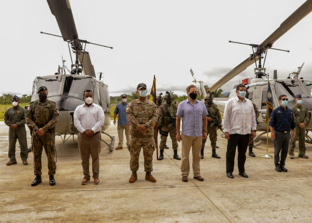
{"label": "front-row soldier in tan camouflage, dark cap and brown boots", "polygon": [[139,84],[137,87],[139,99],[132,100],[127,109],[127,119],[130,122],[130,169],[132,175],[129,183],[134,183],[137,180],[137,170],[139,169],[139,156],[143,147],[144,155],[144,171],[146,171],[145,179],[150,182],[156,182],[152,176],[153,171],[153,153],[156,145],[154,140],[153,125],[157,121],[158,111],[154,102],[146,99],[147,90],[146,84]]}

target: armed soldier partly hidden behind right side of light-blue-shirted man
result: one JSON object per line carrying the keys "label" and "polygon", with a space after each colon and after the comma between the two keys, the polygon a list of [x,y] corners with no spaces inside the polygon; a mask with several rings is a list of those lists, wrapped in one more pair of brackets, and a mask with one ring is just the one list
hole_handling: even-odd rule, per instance
{"label": "armed soldier partly hidden behind right side of light-blue-shirted man", "polygon": [[[220,111],[217,107],[216,104],[214,104],[213,102],[213,97],[212,94],[208,94],[205,98],[205,104],[206,104],[206,109],[208,111],[208,115],[207,115],[207,130],[209,134],[209,139],[210,139],[210,143],[211,143],[211,148],[212,148],[212,154],[211,157],[212,158],[217,158],[220,159],[221,157],[218,156],[215,152],[215,148],[216,148],[216,140],[217,140],[217,129],[218,127],[216,125],[210,126],[211,123],[213,122],[213,118],[217,118],[217,120],[219,121],[219,123],[222,122],[222,118],[221,118],[221,114]],[[204,159],[204,148],[205,148],[205,143],[207,141],[206,139],[203,139],[202,141],[202,149],[201,149],[201,159]]]}

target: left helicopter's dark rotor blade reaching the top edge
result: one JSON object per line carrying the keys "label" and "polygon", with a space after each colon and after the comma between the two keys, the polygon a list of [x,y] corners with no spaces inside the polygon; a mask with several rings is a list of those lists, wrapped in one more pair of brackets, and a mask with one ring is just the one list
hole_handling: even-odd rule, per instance
{"label": "left helicopter's dark rotor blade reaching the top edge", "polygon": [[64,41],[78,39],[76,25],[69,0],[47,0],[52,14],[55,16]]}

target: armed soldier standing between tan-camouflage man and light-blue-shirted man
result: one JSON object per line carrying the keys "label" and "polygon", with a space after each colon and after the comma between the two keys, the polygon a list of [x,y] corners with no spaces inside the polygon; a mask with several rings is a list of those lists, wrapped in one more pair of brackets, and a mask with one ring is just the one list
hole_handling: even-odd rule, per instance
{"label": "armed soldier standing between tan-camouflage man and light-blue-shirted man", "polygon": [[166,103],[164,103],[159,108],[159,117],[158,117],[158,126],[160,129],[160,155],[158,160],[163,159],[163,149],[165,148],[166,141],[168,134],[170,134],[170,138],[172,140],[172,149],[173,149],[173,159],[181,160],[181,158],[178,156],[178,142],[176,139],[177,130],[175,127],[175,121],[176,121],[176,113],[178,107],[175,104],[172,104],[172,95],[170,92],[166,92],[166,95],[164,96],[164,100]]}

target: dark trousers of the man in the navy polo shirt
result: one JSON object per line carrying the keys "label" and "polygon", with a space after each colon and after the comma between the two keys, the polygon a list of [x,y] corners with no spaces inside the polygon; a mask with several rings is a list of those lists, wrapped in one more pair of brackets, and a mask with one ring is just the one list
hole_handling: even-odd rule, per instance
{"label": "dark trousers of the man in the navy polo shirt", "polygon": [[[274,164],[277,166],[285,166],[285,160],[288,152],[288,145],[290,140],[290,132],[283,133],[275,131],[274,139]],[[279,153],[281,153],[281,158],[279,159]]]}

